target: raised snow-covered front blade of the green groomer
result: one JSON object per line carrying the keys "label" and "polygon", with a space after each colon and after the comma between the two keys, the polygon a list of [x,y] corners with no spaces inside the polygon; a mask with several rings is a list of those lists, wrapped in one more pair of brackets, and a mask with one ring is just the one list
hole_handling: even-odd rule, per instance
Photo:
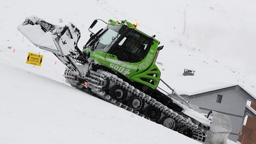
{"label": "raised snow-covered front blade of the green groomer", "polygon": [[36,16],[27,17],[18,30],[37,47],[61,56],[74,53],[80,38],[72,23],[61,27]]}

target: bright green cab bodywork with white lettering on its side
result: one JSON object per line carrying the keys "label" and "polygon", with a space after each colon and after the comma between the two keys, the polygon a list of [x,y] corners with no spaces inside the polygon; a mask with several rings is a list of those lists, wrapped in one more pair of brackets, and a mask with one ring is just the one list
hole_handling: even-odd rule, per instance
{"label": "bright green cab bodywork with white lettering on its side", "polygon": [[[122,21],[122,23],[117,23],[111,19],[109,20],[109,25],[123,24],[128,25],[128,28],[135,29],[139,33],[142,33],[143,35],[150,38],[149,35],[139,31],[134,25],[132,25],[128,21]],[[124,75],[125,77],[130,79],[130,81],[136,81],[138,83],[149,86],[152,89],[155,89],[157,88],[157,85],[159,83],[161,72],[159,71],[155,63],[153,63],[159,41],[154,38],[152,39],[153,44],[151,45],[149,52],[142,61],[137,63],[119,61],[117,56],[109,54],[107,52],[103,52],[101,50],[92,51],[90,48],[86,48],[82,52],[90,52],[90,58],[93,58],[99,64],[104,65],[105,67],[108,67]]]}

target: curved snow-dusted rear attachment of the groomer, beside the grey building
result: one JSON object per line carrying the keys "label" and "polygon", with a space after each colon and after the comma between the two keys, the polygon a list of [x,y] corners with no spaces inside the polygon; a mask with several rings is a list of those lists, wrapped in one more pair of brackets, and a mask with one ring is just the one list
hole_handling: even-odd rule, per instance
{"label": "curved snow-dusted rear attachment of the groomer, beside the grey building", "polygon": [[231,121],[229,117],[212,111],[212,123],[206,132],[206,141],[210,144],[226,144],[229,133],[231,132]]}

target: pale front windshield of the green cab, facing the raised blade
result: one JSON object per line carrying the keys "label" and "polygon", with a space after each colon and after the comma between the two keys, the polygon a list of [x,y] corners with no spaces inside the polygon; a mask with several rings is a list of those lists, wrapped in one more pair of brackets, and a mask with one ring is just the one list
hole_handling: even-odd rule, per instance
{"label": "pale front windshield of the green cab, facing the raised blade", "polygon": [[99,39],[97,40],[97,42],[95,42],[94,48],[99,50],[110,48],[120,36],[118,31],[121,28],[121,26],[108,25],[107,28],[107,30],[103,31],[103,33],[100,34]]}

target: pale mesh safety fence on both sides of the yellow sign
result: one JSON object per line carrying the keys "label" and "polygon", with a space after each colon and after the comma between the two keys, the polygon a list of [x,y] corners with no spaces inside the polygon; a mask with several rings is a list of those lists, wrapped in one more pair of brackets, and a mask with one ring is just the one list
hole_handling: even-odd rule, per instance
{"label": "pale mesh safety fence on both sides of the yellow sign", "polygon": [[[37,53],[37,54],[40,54],[40,53]],[[6,59],[6,61],[14,62],[19,65],[28,65],[26,64],[27,55],[28,55],[28,52],[26,51],[0,45],[0,57],[2,59]],[[59,61],[57,62],[44,55],[40,69],[44,69],[46,71],[55,73],[57,75],[63,75],[65,71],[65,67],[66,66],[63,65],[61,62]]]}

